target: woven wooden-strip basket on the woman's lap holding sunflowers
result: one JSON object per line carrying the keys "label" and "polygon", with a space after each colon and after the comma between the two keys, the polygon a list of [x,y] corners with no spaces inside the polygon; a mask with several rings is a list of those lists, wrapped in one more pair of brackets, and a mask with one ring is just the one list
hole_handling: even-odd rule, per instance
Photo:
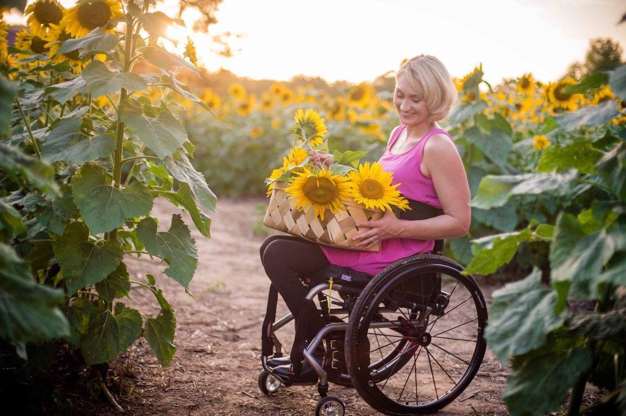
{"label": "woven wooden-strip basket on the woman's lap holding sunflowers", "polygon": [[324,221],[322,221],[315,216],[313,208],[304,213],[304,211],[298,211],[295,206],[291,205],[295,203],[295,199],[287,200],[285,188],[288,186],[289,184],[285,182],[274,182],[270,203],[263,220],[265,226],[331,247],[359,251],[379,251],[381,249],[380,241],[371,248],[364,250],[354,246],[362,240],[352,240],[355,235],[370,230],[367,227],[357,228],[356,223],[380,220],[384,215],[381,210],[370,210],[351,198],[342,201],[347,208],[346,211],[339,210],[338,213],[333,214],[330,210],[326,210]]}

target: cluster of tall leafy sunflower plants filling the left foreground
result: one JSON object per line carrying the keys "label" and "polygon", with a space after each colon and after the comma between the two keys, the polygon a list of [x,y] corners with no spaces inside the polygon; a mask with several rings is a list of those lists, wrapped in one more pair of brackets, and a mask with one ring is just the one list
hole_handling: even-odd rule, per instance
{"label": "cluster of tall leafy sunflower plants filling the left foreground", "polygon": [[[173,308],[125,258],[162,259],[188,291],[198,254],[178,210],[208,237],[202,210],[217,198],[171,106],[208,106],[176,78],[198,73],[193,59],[158,42],[182,21],[150,2],[38,0],[25,14],[14,46],[0,24],[0,338],[31,362],[70,345],[106,391],[108,362],[138,338],[164,367],[176,351]],[[154,71],[134,72],[139,57]],[[150,216],[158,196],[175,208],[169,228]],[[121,302],[134,286],[149,288],[158,314]]]}

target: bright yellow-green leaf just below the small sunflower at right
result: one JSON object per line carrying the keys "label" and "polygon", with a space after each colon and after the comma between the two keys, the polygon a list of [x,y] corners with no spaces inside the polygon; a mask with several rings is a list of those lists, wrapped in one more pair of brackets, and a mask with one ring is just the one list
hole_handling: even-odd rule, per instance
{"label": "bright yellow-green leaf just below the small sunflower at right", "polygon": [[538,172],[557,171],[562,173],[575,168],[580,173],[595,173],[595,166],[604,153],[593,147],[588,139],[576,140],[567,146],[548,146],[537,166]]}

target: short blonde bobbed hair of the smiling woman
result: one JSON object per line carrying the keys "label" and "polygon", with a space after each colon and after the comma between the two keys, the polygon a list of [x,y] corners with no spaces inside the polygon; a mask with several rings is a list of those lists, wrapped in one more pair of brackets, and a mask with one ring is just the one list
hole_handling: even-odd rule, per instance
{"label": "short blonde bobbed hair of the smiling woman", "polygon": [[458,93],[448,69],[439,59],[425,54],[407,59],[396,73],[396,85],[402,74],[406,74],[413,89],[417,91],[418,85],[423,88],[429,122],[449,116]]}

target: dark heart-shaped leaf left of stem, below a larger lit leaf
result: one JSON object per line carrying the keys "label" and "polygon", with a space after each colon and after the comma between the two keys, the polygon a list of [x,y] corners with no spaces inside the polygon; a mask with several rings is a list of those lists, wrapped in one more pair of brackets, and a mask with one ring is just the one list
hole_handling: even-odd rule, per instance
{"label": "dark heart-shaped leaf left of stem, below a larger lit leaf", "polygon": [[80,288],[100,282],[115,270],[124,250],[120,242],[113,240],[95,245],[89,241],[85,224],[72,221],[54,242],[54,254],[65,276],[68,295],[74,295]]}

